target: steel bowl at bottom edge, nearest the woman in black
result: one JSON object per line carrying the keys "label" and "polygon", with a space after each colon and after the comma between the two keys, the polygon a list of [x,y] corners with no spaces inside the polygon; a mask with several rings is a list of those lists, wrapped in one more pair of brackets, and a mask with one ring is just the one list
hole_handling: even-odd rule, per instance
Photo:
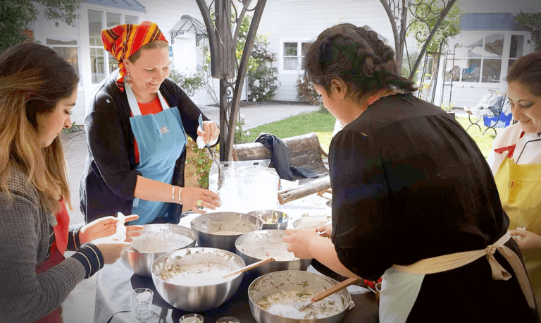
{"label": "steel bowl at bottom edge, nearest the woman in black", "polygon": [[338,284],[334,279],[311,272],[298,270],[285,270],[271,272],[255,279],[248,288],[248,298],[251,314],[257,323],[338,323],[342,322],[347,310],[354,307],[352,295],[346,288],[330,295],[329,298],[342,305],[342,312],[321,319],[291,319],[270,314],[256,305],[261,298],[277,291],[311,291],[321,293]]}

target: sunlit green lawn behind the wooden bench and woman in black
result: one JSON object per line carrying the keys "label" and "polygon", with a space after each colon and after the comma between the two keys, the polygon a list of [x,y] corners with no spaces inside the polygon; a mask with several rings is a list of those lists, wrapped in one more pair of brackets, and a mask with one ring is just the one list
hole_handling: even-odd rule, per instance
{"label": "sunlit green lawn behind the wooden bench and woman in black", "polygon": [[[466,129],[470,122],[468,118],[456,118],[462,127]],[[483,124],[482,121],[479,122]],[[335,127],[335,118],[330,114],[325,114],[320,111],[314,111],[309,114],[301,114],[299,116],[293,116],[282,121],[268,123],[263,126],[252,128],[249,130],[249,136],[242,136],[242,142],[254,142],[260,133],[272,133],[278,136],[278,138],[288,138],[294,135],[304,135],[305,133],[316,133],[321,147],[325,152],[329,151],[330,140],[332,139],[332,130]],[[472,126],[468,129],[468,134],[471,138],[477,142],[477,145],[485,158],[488,157],[488,153],[492,149],[492,141],[494,141],[495,135],[493,130],[488,130],[485,135],[487,127],[481,126],[481,131],[477,126]],[[246,131],[244,131],[246,133]]]}

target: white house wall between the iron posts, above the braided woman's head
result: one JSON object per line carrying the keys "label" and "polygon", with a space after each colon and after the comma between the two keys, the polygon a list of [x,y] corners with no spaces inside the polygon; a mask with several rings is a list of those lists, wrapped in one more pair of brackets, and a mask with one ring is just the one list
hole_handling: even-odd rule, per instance
{"label": "white house wall between the iron posts, above the braided woman's head", "polygon": [[[315,39],[337,23],[369,25],[394,44],[387,13],[379,0],[268,0],[261,17],[259,35],[268,34],[268,48],[280,53],[280,40]],[[393,46],[394,47],[394,46]],[[279,67],[280,60],[273,66]],[[274,100],[297,101],[297,73],[280,73]]]}

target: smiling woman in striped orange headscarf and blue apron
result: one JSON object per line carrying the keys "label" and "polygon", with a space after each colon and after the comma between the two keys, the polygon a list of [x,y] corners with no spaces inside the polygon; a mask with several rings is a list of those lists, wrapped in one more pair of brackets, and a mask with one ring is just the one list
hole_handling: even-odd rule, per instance
{"label": "smiling woman in striped orange headscarf and blue apron", "polygon": [[101,32],[119,69],[98,85],[85,118],[88,157],[80,181],[87,222],[116,212],[133,224],[178,223],[182,205],[215,209],[216,193],[184,188],[187,135],[215,145],[220,130],[173,80],[168,42],[158,26],[118,25]]}

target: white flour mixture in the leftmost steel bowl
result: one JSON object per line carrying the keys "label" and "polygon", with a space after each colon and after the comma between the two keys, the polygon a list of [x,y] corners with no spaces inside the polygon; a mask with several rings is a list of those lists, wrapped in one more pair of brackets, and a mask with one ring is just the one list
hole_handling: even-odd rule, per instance
{"label": "white flour mixture in the leftmost steel bowl", "polygon": [[144,232],[133,240],[132,246],[140,252],[166,252],[184,248],[194,239],[173,232]]}

